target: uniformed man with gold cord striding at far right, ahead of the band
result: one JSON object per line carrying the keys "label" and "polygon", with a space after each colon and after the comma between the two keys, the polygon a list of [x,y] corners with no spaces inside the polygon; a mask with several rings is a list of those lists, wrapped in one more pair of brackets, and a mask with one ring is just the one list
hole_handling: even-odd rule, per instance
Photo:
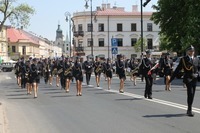
{"label": "uniformed man with gold cord striding at far right, ahead of the band", "polygon": [[175,78],[175,76],[180,72],[180,70],[184,70],[183,82],[187,87],[187,115],[190,117],[194,116],[194,113],[192,112],[192,104],[194,100],[198,77],[198,69],[197,66],[195,66],[194,64],[197,58],[194,58],[194,52],[195,49],[193,46],[190,46],[186,49],[186,56],[180,59],[180,62],[170,79],[171,82]]}

